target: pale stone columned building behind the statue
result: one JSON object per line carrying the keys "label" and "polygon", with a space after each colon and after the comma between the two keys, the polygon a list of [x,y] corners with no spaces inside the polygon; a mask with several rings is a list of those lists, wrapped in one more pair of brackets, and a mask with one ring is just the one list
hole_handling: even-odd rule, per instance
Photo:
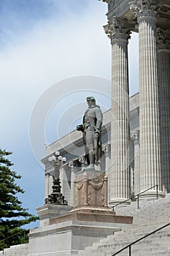
{"label": "pale stone columned building behind the statue", "polygon": [[[164,197],[170,191],[170,4],[168,0],[103,2],[108,6],[104,31],[112,47],[112,107],[104,113],[101,161],[109,178],[109,205],[147,189],[143,197],[155,197],[157,192]],[[129,98],[128,41],[132,31],[139,33],[139,94]],[[61,170],[61,179],[72,204],[74,173],[83,167],[81,135],[74,131],[47,147],[42,159],[45,196],[52,182],[47,158],[56,150],[69,161]]]}

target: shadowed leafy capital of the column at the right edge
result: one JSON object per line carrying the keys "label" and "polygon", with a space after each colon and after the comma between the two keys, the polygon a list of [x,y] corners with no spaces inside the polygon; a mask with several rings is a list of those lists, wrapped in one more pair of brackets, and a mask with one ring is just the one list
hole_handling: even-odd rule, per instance
{"label": "shadowed leafy capital of the column at the right edge", "polygon": [[170,50],[170,29],[157,29],[158,49]]}

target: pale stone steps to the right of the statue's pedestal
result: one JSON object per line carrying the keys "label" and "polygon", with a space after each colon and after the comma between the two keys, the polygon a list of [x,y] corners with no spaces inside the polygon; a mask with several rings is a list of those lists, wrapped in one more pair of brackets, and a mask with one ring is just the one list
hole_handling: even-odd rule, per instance
{"label": "pale stone steps to the right of the statue's pedestal", "polygon": [[[124,246],[170,222],[170,194],[163,199],[141,200],[140,208],[133,202],[130,206],[115,209],[117,215],[134,216],[133,225],[123,227],[115,235],[107,236],[98,243],[80,251],[80,256],[111,256]],[[128,249],[119,256],[128,256]],[[170,225],[131,246],[133,256],[170,256]]]}

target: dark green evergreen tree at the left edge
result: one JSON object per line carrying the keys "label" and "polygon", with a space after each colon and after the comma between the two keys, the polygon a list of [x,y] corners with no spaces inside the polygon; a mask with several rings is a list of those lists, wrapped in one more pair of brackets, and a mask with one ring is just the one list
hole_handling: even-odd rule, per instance
{"label": "dark green evergreen tree at the left edge", "polygon": [[0,250],[27,242],[28,230],[22,226],[38,219],[18,199],[18,193],[24,191],[15,183],[21,176],[10,170],[13,164],[6,158],[10,154],[0,148]]}

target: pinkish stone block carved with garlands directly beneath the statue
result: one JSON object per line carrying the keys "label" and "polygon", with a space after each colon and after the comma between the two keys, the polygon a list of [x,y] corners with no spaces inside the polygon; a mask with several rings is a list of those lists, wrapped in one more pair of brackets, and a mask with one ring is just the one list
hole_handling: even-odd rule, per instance
{"label": "pinkish stone block carved with garlands directly beneath the statue", "polygon": [[81,181],[74,179],[74,207],[107,207],[107,176],[104,173],[90,178],[84,173]]}

